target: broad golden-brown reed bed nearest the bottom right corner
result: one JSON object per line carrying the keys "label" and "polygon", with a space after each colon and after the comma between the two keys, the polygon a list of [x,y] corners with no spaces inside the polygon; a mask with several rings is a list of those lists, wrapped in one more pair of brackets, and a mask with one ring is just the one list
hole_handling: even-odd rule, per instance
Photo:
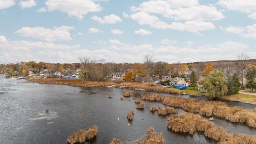
{"label": "broad golden-brown reed bed nearest the bottom right corner", "polygon": [[222,127],[207,121],[203,117],[185,113],[183,115],[170,115],[167,122],[168,129],[174,132],[194,134],[204,132],[205,137],[212,138],[218,143],[256,143],[256,137],[244,134],[230,134]]}

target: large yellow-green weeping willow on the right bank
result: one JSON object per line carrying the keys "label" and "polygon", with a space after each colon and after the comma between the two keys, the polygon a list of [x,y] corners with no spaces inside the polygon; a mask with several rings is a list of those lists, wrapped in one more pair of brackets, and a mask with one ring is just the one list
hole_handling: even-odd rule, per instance
{"label": "large yellow-green weeping willow on the right bank", "polygon": [[220,98],[227,93],[226,78],[222,71],[214,70],[208,76],[199,79],[206,95],[212,98]]}

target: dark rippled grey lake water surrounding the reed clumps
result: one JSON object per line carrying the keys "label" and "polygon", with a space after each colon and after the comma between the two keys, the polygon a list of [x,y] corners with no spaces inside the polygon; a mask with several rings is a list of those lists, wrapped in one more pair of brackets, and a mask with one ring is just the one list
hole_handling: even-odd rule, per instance
{"label": "dark rippled grey lake water surrounding the reed clumps", "polygon": [[[145,110],[137,110],[133,97],[120,100],[124,91],[114,87],[40,85],[0,75],[0,143],[67,143],[72,132],[92,125],[98,126],[98,135],[87,143],[105,144],[113,138],[135,141],[141,139],[150,126],[163,132],[165,143],[216,143],[200,133],[190,135],[167,130],[167,116],[161,117],[149,111],[152,104],[163,106],[161,103],[143,101]],[[151,93],[130,91],[136,95]],[[110,93],[114,96],[112,99],[108,98]],[[254,108],[241,102],[228,103]],[[46,108],[50,109],[50,115],[45,114]],[[130,110],[134,111],[134,118],[131,125],[127,125],[126,115]],[[256,135],[256,129],[245,124],[230,123],[221,118],[215,118],[214,123],[231,133]]]}

